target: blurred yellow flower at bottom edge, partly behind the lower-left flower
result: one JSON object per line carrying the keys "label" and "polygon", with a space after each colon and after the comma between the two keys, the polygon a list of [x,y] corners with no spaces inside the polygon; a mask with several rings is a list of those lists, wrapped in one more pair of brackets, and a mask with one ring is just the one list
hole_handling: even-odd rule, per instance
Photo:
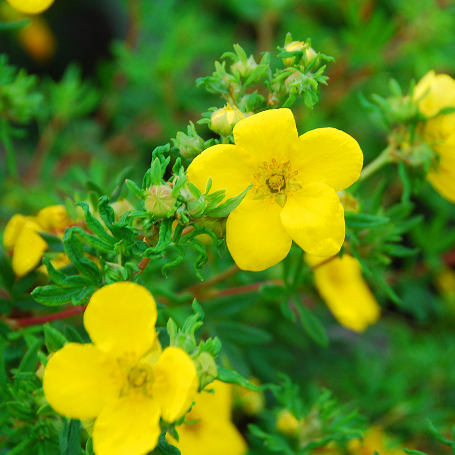
{"label": "blurred yellow flower at bottom edge, partly behind the lower-left flower", "polygon": [[185,417],[198,422],[178,426],[178,441],[169,435],[166,439],[180,449],[181,455],[243,455],[247,445],[231,422],[232,386],[214,381],[207,388],[215,393],[199,393]]}

